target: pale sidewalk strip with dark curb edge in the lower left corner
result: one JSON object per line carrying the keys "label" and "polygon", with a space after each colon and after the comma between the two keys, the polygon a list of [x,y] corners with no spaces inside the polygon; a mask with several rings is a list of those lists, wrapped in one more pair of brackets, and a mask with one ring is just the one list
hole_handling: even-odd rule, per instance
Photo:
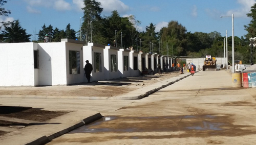
{"label": "pale sidewalk strip with dark curb edge in the lower left corner", "polygon": [[2,135],[0,136],[1,144],[22,145],[47,142],[83,126],[84,120],[87,123],[92,123],[100,117],[102,117],[101,114],[95,111],[73,111],[50,119],[46,123],[28,126]]}

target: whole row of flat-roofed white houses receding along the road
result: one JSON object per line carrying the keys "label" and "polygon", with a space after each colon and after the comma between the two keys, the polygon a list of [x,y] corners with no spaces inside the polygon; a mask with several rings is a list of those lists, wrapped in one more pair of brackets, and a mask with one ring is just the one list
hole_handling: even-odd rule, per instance
{"label": "whole row of flat-roofed white houses receding along the road", "polygon": [[[0,86],[51,86],[87,82],[83,67],[93,65],[92,81],[139,76],[172,64],[158,54],[61,39],[53,43],[1,43]],[[167,66],[169,68],[170,65]]]}

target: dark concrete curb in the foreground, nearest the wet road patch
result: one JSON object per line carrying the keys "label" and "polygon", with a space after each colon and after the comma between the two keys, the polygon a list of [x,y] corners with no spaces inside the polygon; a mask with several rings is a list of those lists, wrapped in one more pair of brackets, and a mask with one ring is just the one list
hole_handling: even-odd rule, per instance
{"label": "dark concrete curb in the foreground, nearest the wet road patch", "polygon": [[63,129],[61,131],[58,131],[58,132],[56,132],[56,133],[54,133],[54,134],[52,134],[52,135],[50,135],[48,137],[47,136],[42,136],[40,138],[35,139],[34,141],[26,143],[25,145],[42,145],[42,144],[46,144],[46,143],[50,142],[52,139],[54,139],[56,137],[59,137],[59,136],[61,136],[63,134],[66,134],[66,133],[68,133],[68,132],[70,132],[72,130],[75,130],[75,129],[81,127],[81,126],[93,123],[93,122],[95,122],[96,120],[98,120],[98,119],[100,119],[102,117],[103,116],[100,113],[97,113],[95,115],[92,115],[92,116],[89,116],[87,118],[82,119],[82,121],[80,123],[78,123],[78,124],[75,124],[75,125],[73,125],[73,126],[71,126],[69,128],[66,128],[66,129]]}

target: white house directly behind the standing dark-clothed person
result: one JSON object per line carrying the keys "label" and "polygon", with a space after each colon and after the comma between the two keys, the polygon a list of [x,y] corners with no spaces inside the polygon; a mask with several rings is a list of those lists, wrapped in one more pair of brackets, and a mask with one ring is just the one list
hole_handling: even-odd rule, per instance
{"label": "white house directly behind the standing dark-clothed person", "polygon": [[[106,79],[105,75],[108,74],[108,71],[104,68],[104,49],[104,45],[95,43],[88,43],[87,46],[83,46],[83,68],[86,65],[86,60],[89,60],[89,63],[93,65],[91,81]],[[86,77],[84,77],[84,82],[87,82]]]}

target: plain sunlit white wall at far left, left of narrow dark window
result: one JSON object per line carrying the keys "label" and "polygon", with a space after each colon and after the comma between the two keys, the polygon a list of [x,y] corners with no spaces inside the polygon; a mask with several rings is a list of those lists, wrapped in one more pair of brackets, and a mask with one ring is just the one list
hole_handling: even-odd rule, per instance
{"label": "plain sunlit white wall at far left, left of narrow dark window", "polygon": [[34,43],[0,44],[0,86],[34,86]]}

